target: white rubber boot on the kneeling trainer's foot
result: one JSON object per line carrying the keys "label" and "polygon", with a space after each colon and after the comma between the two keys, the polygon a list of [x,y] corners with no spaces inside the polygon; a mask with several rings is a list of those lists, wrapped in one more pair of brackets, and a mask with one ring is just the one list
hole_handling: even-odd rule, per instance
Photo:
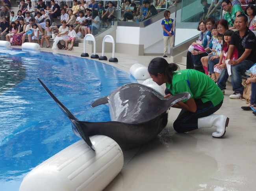
{"label": "white rubber boot on the kneeling trainer's foot", "polygon": [[202,127],[216,127],[216,132],[212,133],[214,138],[221,138],[226,133],[229,118],[224,115],[211,114],[207,117],[198,118],[198,129]]}

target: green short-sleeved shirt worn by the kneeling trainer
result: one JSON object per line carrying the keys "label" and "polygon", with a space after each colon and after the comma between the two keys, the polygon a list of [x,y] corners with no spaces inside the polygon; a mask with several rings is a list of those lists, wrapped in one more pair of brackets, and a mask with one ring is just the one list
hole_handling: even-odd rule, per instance
{"label": "green short-sleeved shirt worn by the kneeling trainer", "polygon": [[201,99],[203,103],[211,101],[213,106],[217,106],[224,99],[221,89],[215,82],[209,76],[194,69],[176,71],[172,83],[172,87],[169,83],[166,84],[172,95],[187,91],[191,98]]}

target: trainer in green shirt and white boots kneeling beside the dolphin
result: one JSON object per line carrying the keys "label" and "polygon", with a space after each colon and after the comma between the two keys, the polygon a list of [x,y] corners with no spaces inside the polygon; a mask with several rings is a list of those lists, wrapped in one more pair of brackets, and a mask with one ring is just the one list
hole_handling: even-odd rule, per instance
{"label": "trainer in green shirt and white boots kneeling beside the dolphin", "polygon": [[148,65],[148,73],[158,85],[166,83],[170,93],[165,98],[189,92],[188,100],[179,101],[173,107],[182,109],[173,123],[178,133],[193,131],[202,127],[216,127],[214,138],[221,138],[226,132],[229,118],[213,114],[223,103],[223,93],[207,75],[193,69],[178,70],[178,65],[164,58],[154,58]]}

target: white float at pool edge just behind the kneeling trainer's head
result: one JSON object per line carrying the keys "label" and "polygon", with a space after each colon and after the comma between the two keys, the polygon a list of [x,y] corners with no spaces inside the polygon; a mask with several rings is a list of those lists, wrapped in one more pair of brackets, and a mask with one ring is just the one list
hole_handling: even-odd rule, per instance
{"label": "white float at pool edge just behind the kneeling trainer's head", "polygon": [[130,67],[130,73],[136,80],[147,80],[150,78],[148,68],[142,64],[134,64]]}

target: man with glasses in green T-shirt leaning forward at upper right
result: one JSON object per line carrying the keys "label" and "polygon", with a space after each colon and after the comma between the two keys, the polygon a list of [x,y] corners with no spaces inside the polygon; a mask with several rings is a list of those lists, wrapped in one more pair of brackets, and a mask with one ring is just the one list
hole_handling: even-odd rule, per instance
{"label": "man with glasses in green T-shirt leaning forward at upper right", "polygon": [[236,29],[234,26],[234,22],[237,15],[244,14],[242,7],[240,5],[233,5],[231,4],[230,0],[223,0],[221,6],[224,11],[227,13],[225,14],[225,19],[228,21],[228,29]]}

